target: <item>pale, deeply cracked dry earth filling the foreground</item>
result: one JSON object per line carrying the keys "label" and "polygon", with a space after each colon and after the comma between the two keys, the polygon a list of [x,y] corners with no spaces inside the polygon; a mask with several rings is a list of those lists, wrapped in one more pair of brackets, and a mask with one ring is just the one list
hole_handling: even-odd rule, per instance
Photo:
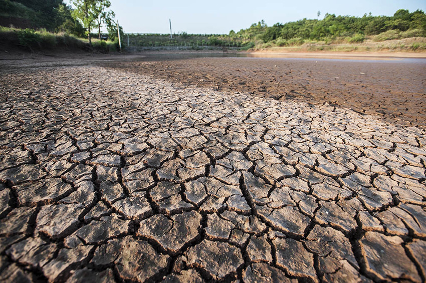
{"label": "pale, deeply cracked dry earth filling the foreground", "polygon": [[421,127],[96,66],[0,86],[0,281],[426,279]]}

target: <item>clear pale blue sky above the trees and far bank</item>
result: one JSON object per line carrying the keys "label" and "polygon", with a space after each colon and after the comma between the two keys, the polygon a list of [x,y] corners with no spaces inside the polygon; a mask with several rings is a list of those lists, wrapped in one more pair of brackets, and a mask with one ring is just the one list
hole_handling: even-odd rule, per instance
{"label": "clear pale blue sky above the trees and far bank", "polygon": [[[265,20],[268,26],[303,18],[320,19],[326,13],[361,17],[392,16],[399,9],[426,12],[426,0],[110,0],[125,33],[170,32],[188,34],[228,34]],[[70,3],[70,0],[65,1]]]}

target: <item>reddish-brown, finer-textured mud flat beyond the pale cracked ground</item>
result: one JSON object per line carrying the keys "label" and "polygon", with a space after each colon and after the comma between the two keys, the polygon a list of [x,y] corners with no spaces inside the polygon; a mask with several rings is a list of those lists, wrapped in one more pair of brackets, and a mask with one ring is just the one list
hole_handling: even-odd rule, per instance
{"label": "reddish-brown, finer-textured mud flat beyond the pale cracked ground", "polygon": [[426,60],[176,59],[175,55],[162,55],[106,66],[182,85],[277,100],[328,103],[379,115],[389,122],[424,126],[426,64],[421,61]]}

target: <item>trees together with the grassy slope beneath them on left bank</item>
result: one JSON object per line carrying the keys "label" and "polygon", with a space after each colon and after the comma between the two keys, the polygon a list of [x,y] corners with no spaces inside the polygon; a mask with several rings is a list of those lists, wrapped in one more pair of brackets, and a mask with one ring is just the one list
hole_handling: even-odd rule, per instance
{"label": "trees together with the grassy slope beneath them on left bank", "polygon": [[[98,52],[117,50],[114,12],[109,0],[74,0],[73,9],[63,0],[0,0],[3,42],[23,46],[31,51],[57,46],[92,49]],[[106,25],[111,41],[101,40],[101,27]],[[16,27],[16,28],[15,28]],[[92,29],[99,41],[92,46]],[[122,33],[122,27],[120,27]],[[77,38],[87,37],[88,41]]]}

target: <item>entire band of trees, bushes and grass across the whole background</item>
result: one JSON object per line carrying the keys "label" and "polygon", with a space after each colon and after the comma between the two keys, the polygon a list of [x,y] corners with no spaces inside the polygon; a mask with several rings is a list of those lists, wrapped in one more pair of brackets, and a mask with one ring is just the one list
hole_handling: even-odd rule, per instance
{"label": "entire band of trees, bushes and grass across the whole background", "polygon": [[[98,52],[118,49],[115,14],[110,0],[73,0],[74,8],[63,0],[0,0],[0,36],[29,50],[57,46],[78,47]],[[317,16],[320,17],[318,12]],[[9,23],[5,25],[5,23]],[[109,41],[101,34],[108,30]],[[16,27],[18,29],[15,29]],[[95,31],[97,35],[94,35]],[[122,46],[182,47],[190,49],[228,48],[239,50],[275,49],[288,51],[380,51],[425,50],[426,15],[421,10],[398,10],[391,16],[361,18],[325,14],[324,19],[303,19],[268,27],[264,21],[228,35],[124,34]],[[82,39],[82,38],[86,38]],[[92,40],[92,38],[99,40]],[[78,39],[80,38],[80,39]],[[414,40],[410,40],[414,39]],[[78,43],[77,43],[78,42]],[[92,45],[93,42],[93,45]]]}

